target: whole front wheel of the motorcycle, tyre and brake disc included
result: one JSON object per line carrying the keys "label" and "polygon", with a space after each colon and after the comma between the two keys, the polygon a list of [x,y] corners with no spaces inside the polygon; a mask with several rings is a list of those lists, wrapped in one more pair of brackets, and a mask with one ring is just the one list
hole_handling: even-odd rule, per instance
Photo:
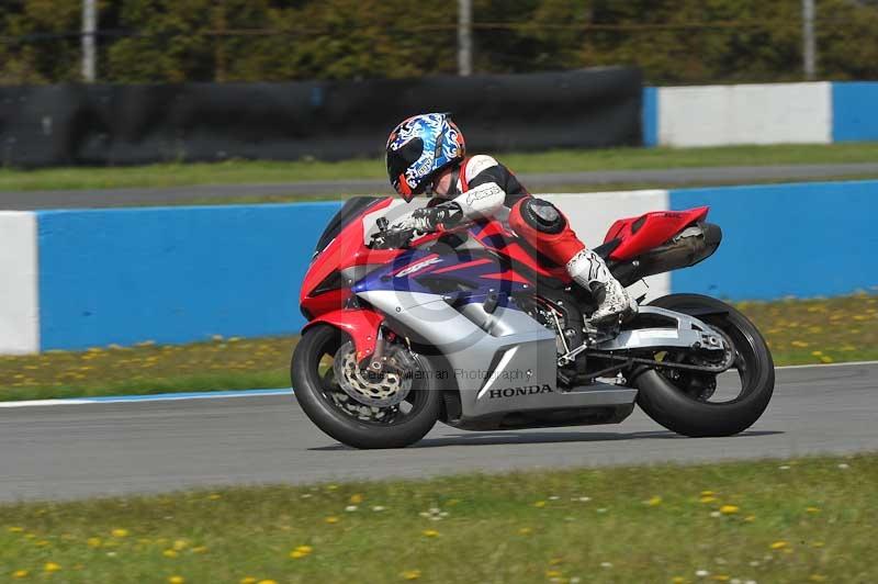
{"label": "whole front wheel of the motorcycle, tyre and brake disc included", "polygon": [[353,344],[335,327],[302,335],[291,363],[293,394],[323,431],[354,448],[402,448],[436,424],[442,404],[429,362],[396,347],[384,372],[360,370]]}

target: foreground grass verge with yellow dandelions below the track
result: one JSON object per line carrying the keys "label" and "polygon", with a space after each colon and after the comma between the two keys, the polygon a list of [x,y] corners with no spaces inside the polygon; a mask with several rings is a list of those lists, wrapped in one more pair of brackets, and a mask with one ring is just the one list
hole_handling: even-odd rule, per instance
{"label": "foreground grass verge with yellow dandelions below the track", "polygon": [[875,582],[877,482],[865,454],[2,505],[0,577]]}

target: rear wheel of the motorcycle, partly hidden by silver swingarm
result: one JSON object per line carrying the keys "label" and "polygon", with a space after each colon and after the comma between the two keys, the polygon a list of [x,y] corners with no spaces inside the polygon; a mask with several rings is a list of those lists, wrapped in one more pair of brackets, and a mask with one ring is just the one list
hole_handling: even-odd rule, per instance
{"label": "rear wheel of the motorcycle, partly hidden by silver swingarm", "polygon": [[[671,294],[652,306],[695,316],[732,345],[734,362],[720,375],[651,369],[637,377],[638,405],[665,428],[690,437],[732,436],[762,416],[775,388],[772,353],[746,316],[719,300],[699,294]],[[685,353],[665,360],[691,362]],[[730,394],[718,398],[721,394]]]}

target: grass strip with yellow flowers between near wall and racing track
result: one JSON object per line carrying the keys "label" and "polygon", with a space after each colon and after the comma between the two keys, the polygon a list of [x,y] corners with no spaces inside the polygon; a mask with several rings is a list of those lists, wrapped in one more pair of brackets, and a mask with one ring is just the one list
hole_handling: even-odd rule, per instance
{"label": "grass strip with yellow flowers between near wall and racing track", "polygon": [[[878,296],[741,302],[775,363],[878,360]],[[297,337],[0,357],[0,401],[286,388]]]}

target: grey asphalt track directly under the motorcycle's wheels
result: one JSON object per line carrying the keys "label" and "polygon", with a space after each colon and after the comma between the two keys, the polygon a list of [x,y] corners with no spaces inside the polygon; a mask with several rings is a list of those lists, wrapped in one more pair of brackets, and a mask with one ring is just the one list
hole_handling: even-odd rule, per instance
{"label": "grey asphalt track directly under the motorcycle's wheels", "polygon": [[357,451],[286,395],[33,406],[0,408],[0,501],[856,451],[878,451],[878,363],[780,369],[763,418],[710,439],[678,437],[637,411],[618,426],[438,425],[412,448]]}

